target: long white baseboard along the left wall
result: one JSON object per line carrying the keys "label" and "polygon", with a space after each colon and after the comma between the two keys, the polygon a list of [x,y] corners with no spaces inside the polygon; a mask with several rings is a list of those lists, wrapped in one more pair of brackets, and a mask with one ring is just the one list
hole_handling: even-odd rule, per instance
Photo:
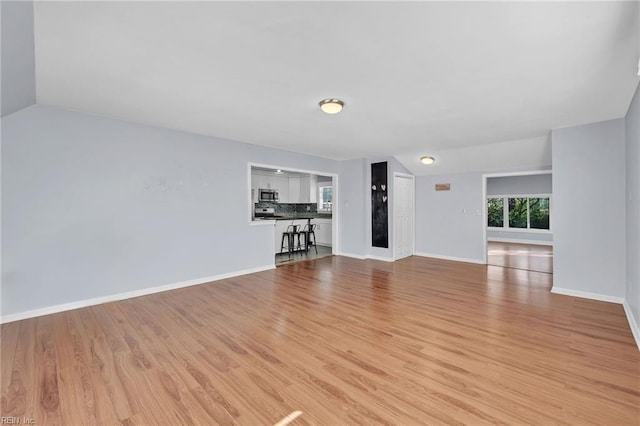
{"label": "long white baseboard along the left wall", "polygon": [[190,287],[198,284],[205,284],[211,281],[220,281],[226,278],[233,278],[240,275],[253,274],[255,272],[275,269],[275,265],[260,266],[257,268],[245,269],[242,271],[230,272],[226,274],[214,275],[211,277],[196,278],[194,280],[182,281],[174,284],[165,284],[156,287],[148,287],[140,290],[127,291],[124,293],[111,294],[108,296],[95,297],[93,299],[78,300],[76,302],[64,303],[62,305],[47,306],[30,311],[18,312],[16,314],[3,315],[0,317],[0,324],[19,321],[27,318],[39,317],[42,315],[56,314],[58,312],[70,311],[72,309],[86,308],[87,306],[101,305],[103,303],[115,302],[118,300],[131,299],[134,297],[146,296],[148,294],[160,293],[168,290],[175,290],[183,287]]}

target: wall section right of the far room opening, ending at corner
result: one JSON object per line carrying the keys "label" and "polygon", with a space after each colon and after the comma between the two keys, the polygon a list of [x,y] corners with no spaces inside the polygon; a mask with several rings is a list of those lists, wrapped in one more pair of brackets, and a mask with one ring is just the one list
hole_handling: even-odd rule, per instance
{"label": "wall section right of the far room opening, ending at corner", "polygon": [[624,297],[624,126],[552,131],[554,291]]}

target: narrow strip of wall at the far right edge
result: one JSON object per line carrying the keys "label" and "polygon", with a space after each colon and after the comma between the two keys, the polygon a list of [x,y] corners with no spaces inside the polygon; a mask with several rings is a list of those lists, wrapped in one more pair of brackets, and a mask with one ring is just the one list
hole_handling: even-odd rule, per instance
{"label": "narrow strip of wall at the far right edge", "polygon": [[636,89],[625,119],[626,129],[626,278],[625,301],[633,315],[640,346],[640,89]]}

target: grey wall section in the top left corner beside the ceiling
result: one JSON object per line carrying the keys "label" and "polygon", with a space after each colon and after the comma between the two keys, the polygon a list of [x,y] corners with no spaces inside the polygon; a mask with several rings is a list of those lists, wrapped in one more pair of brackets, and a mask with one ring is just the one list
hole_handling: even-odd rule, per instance
{"label": "grey wall section in the top left corner beside the ceiling", "polygon": [[2,1],[1,115],[36,102],[33,2]]}

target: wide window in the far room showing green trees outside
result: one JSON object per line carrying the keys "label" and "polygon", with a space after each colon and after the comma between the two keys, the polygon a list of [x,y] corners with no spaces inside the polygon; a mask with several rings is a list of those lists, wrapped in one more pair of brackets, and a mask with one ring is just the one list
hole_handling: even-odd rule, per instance
{"label": "wide window in the far room showing green trees outside", "polygon": [[501,196],[487,198],[487,226],[511,230],[543,230],[550,226],[548,195]]}

